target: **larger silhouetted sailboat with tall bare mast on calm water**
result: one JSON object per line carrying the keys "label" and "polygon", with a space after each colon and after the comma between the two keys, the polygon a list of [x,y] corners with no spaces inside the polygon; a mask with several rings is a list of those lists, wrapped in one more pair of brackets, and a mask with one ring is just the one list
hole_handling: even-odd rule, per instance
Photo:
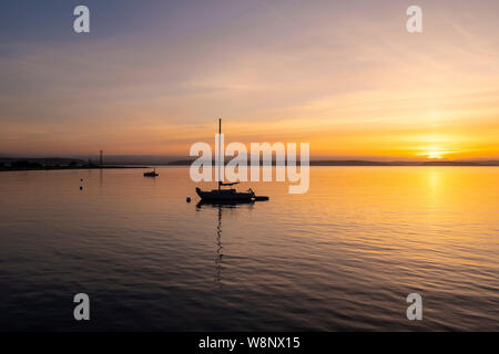
{"label": "larger silhouetted sailboat with tall bare mast on calm water", "polygon": [[[218,134],[222,134],[222,119],[218,119]],[[218,140],[218,144],[221,142]],[[221,147],[218,147],[221,152]],[[224,158],[221,156],[220,162],[223,162]],[[218,169],[221,168],[218,164]],[[218,171],[220,175],[220,171]],[[223,181],[218,181],[218,189],[212,189],[210,191],[201,190],[201,188],[196,188],[196,194],[200,196],[201,201],[211,202],[211,204],[240,204],[240,202],[253,202],[258,200],[268,200],[268,197],[265,196],[256,196],[255,192],[249,188],[247,191],[236,191],[235,189],[222,189],[224,186],[234,186],[237,185],[238,181],[224,184]]]}

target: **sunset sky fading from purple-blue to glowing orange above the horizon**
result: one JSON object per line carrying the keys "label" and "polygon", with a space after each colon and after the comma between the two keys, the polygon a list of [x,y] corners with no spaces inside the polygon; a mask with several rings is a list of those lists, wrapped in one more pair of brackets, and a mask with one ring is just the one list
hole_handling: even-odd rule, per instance
{"label": "sunset sky fading from purple-blue to glowing orange above the horizon", "polygon": [[313,157],[499,158],[497,0],[10,0],[0,77],[4,156],[187,156],[222,117]]}

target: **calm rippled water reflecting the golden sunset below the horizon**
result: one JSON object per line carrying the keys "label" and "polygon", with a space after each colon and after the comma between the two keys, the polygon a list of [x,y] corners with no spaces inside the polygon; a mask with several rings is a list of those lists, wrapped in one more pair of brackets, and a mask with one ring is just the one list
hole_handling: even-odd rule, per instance
{"label": "calm rippled water reflecting the golden sunset below the horizon", "polygon": [[499,330],[499,168],[313,167],[236,208],[142,171],[0,173],[0,330]]}

